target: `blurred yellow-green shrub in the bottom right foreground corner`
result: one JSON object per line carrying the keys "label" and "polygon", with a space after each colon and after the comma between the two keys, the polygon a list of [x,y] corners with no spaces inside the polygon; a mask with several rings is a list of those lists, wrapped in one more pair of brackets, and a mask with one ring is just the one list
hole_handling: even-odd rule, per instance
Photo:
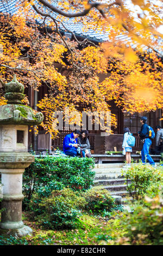
{"label": "blurred yellow-green shrub in the bottom right foreground corner", "polygon": [[125,235],[121,243],[131,245],[162,245],[163,200],[162,197],[145,197],[144,204],[136,203],[134,212],[122,218]]}

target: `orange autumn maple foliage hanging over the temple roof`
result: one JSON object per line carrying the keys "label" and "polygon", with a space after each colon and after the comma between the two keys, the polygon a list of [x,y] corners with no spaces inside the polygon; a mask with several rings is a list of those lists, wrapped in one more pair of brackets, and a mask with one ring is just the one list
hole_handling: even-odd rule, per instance
{"label": "orange autumn maple foliage hanging over the temple roof", "polygon": [[[62,14],[56,8],[49,12],[42,1],[35,2],[36,5],[33,1],[18,2],[17,14],[0,17],[1,105],[6,103],[3,83],[9,82],[15,72],[26,87],[48,88],[37,106],[46,117],[41,125],[52,137],[57,136],[53,112],[65,107],[80,113],[109,111],[109,102],[114,100],[117,106],[131,113],[161,108],[162,34],[157,31],[162,23],[161,2],[134,0],[128,5],[123,0],[105,4],[51,1]],[[135,6],[139,6],[139,12]],[[85,11],[81,16],[82,10]],[[58,27],[71,12],[74,23],[82,22],[84,31],[89,33],[92,28],[108,32],[109,41],[95,45],[75,37],[72,41],[65,39]],[[40,26],[33,23],[37,17],[42,19]],[[123,35],[130,40],[123,40]],[[99,80],[98,74],[106,76],[104,81]],[[25,102],[28,103],[27,98]],[[114,115],[111,122],[116,125]]]}

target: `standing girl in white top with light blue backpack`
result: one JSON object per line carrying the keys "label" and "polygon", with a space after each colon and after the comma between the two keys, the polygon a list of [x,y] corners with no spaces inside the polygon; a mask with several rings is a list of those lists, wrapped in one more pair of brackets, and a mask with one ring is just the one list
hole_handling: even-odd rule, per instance
{"label": "standing girl in white top with light blue backpack", "polygon": [[123,166],[123,168],[127,168],[131,166],[131,152],[132,147],[128,144],[128,137],[131,135],[130,130],[128,127],[124,127],[124,135],[123,135],[123,155],[126,155],[126,164]]}

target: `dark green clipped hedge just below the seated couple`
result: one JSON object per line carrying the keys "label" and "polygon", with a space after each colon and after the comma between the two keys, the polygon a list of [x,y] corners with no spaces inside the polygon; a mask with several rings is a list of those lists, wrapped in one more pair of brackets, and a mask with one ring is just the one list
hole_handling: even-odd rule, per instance
{"label": "dark green clipped hedge just below the seated couple", "polygon": [[85,191],[93,184],[95,162],[91,158],[79,157],[36,157],[35,162],[23,174],[23,200],[27,206],[32,194],[51,181],[71,187],[74,191]]}

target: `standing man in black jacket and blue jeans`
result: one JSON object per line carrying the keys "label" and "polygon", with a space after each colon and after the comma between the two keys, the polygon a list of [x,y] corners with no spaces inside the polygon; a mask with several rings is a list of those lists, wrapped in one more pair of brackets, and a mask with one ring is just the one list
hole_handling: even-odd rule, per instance
{"label": "standing man in black jacket and blue jeans", "polygon": [[147,125],[147,117],[141,117],[140,123],[142,124],[142,126],[141,126],[141,131],[138,132],[138,136],[140,137],[143,143],[143,147],[141,150],[142,164],[146,164],[146,161],[148,160],[151,165],[156,166],[152,157],[149,155],[149,147],[151,146],[152,141],[151,139],[149,139],[149,128]]}

